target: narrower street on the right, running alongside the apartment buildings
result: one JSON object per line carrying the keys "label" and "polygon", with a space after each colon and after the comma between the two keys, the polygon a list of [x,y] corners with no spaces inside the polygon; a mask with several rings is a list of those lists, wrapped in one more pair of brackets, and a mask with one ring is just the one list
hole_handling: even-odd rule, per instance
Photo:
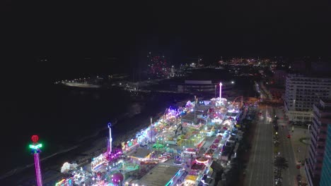
{"label": "narrower street on the right, running alongside the apartment buildings", "polygon": [[[284,118],[284,113],[281,109],[275,108],[277,113],[278,125],[279,125],[279,151],[280,156],[283,156],[289,163],[289,168],[286,168],[282,171],[283,185],[297,185],[296,175],[300,174],[300,171],[296,168],[296,159],[294,156],[294,149],[291,145],[291,140],[287,138],[288,135],[291,135],[291,128],[288,127],[286,120]],[[284,125],[284,128],[281,127]]]}

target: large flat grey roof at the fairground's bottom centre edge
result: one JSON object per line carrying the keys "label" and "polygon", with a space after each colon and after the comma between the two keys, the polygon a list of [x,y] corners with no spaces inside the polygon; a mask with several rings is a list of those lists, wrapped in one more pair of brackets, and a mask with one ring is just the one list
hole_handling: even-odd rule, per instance
{"label": "large flat grey roof at the fairground's bottom centre edge", "polygon": [[178,171],[180,167],[158,164],[139,180],[139,185],[164,186]]}

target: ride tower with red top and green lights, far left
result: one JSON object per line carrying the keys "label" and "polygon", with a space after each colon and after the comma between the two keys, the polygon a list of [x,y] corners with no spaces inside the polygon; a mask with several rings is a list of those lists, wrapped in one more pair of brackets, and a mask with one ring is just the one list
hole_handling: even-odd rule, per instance
{"label": "ride tower with red top and green lights, far left", "polygon": [[37,135],[33,135],[31,137],[31,140],[33,141],[33,144],[30,144],[30,149],[33,152],[33,156],[35,158],[35,175],[37,177],[37,186],[42,186],[42,175],[40,170],[40,159],[39,154],[41,152],[40,148],[42,147],[42,144],[38,144],[39,137]]}

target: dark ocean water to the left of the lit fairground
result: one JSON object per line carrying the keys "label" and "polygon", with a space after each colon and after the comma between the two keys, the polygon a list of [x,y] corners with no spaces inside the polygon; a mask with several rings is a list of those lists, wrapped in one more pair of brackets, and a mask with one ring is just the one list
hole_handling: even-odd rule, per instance
{"label": "dark ocean water to the left of the lit fairground", "polygon": [[[43,85],[42,89],[22,91],[6,100],[1,140],[6,142],[5,159],[0,175],[32,165],[33,156],[28,144],[31,135],[39,135],[42,142],[41,159],[82,145],[92,139],[107,137],[108,122],[113,127],[113,140],[127,131],[147,123],[174,100],[185,94],[141,94],[135,99],[122,89],[83,89],[60,85]],[[146,122],[145,122],[146,121]],[[144,123],[143,123],[144,122]],[[59,160],[58,156],[62,156]],[[74,154],[63,153],[47,160],[47,166],[70,161]],[[52,162],[54,160],[54,162]],[[44,166],[45,168],[45,166]],[[1,182],[1,181],[0,181]]]}

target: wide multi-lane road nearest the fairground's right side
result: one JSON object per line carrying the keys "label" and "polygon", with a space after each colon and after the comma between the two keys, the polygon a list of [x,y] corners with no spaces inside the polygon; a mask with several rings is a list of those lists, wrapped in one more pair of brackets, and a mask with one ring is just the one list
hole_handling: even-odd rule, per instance
{"label": "wide multi-lane road nearest the fairground's right side", "polygon": [[245,185],[273,185],[273,149],[271,107],[260,109],[252,142]]}

